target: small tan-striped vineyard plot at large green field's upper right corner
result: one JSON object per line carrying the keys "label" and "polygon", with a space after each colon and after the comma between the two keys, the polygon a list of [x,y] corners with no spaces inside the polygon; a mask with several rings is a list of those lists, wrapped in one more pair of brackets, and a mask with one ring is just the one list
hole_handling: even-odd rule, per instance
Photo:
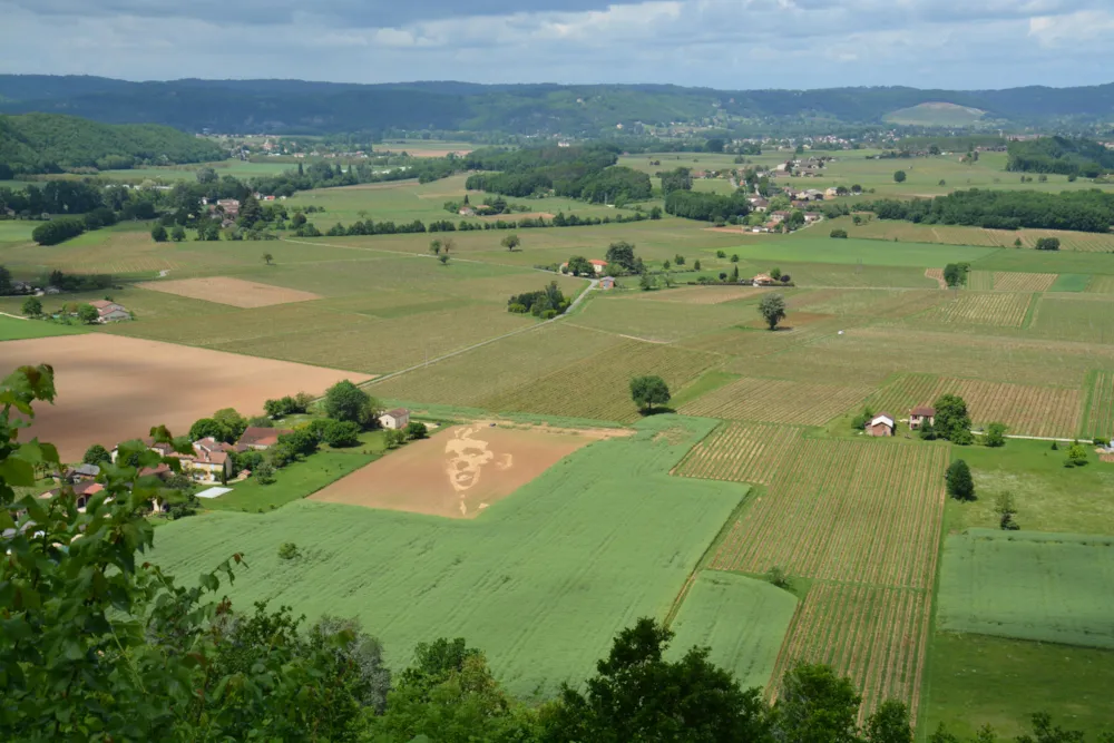
{"label": "small tan-striped vineyard plot at large green field's upper right corner", "polygon": [[769,485],[785,456],[800,446],[801,433],[784,426],[724,423],[696,444],[674,473]]}

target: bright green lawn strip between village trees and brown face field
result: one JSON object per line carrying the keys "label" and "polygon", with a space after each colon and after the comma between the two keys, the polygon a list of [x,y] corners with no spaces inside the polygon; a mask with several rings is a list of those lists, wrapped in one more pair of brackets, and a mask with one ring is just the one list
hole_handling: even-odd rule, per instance
{"label": "bright green lawn strip between village trees and brown face field", "polygon": [[232,485],[232,492],[203,501],[209,510],[267,511],[300,498],[312,496],[326,485],[379,459],[383,451],[382,433],[365,447],[351,450],[319,451],[275,472],[275,481],[261,485],[256,478]]}

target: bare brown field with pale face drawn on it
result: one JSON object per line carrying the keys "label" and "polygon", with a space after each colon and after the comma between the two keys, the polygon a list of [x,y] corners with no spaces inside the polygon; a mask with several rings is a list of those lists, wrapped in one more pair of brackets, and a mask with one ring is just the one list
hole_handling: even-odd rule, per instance
{"label": "bare brown field with pale face drawn on it", "polygon": [[455,426],[368,465],[313,500],[448,518],[476,518],[604,431]]}

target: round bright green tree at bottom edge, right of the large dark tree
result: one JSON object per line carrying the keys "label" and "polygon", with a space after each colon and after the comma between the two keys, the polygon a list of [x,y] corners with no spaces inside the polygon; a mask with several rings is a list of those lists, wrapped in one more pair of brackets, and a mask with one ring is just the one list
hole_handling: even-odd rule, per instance
{"label": "round bright green tree at bottom edge, right of the large dark tree", "polygon": [[860,743],[862,697],[850,678],[824,665],[802,663],[782,680],[774,705],[778,740],[794,743]]}

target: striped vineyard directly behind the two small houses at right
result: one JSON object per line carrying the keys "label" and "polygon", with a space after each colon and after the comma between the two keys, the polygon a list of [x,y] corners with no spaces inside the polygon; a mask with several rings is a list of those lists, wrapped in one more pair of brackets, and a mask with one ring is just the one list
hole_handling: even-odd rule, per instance
{"label": "striped vineyard directly behind the two small houses at right", "polygon": [[906,374],[868,400],[876,411],[899,418],[918,404],[931,405],[942,394],[958,394],[976,426],[1005,423],[1023,436],[1075,436],[1079,426],[1079,391],[974,379]]}

